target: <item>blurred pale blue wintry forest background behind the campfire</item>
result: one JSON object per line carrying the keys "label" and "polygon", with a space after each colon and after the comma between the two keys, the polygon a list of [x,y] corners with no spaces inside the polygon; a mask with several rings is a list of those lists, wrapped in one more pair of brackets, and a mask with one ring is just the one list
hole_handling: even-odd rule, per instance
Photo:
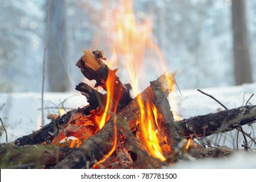
{"label": "blurred pale blue wintry forest background behind the campfire", "polygon": [[[45,48],[45,91],[74,91],[81,49],[110,57],[106,18],[117,8],[119,0],[0,0],[0,92],[41,92]],[[134,14],[152,19],[181,89],[256,82],[256,0],[139,0]]]}

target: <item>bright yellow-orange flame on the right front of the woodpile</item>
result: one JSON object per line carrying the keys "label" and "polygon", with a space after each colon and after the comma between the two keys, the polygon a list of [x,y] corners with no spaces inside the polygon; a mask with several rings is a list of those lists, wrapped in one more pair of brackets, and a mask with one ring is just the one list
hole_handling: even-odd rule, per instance
{"label": "bright yellow-orange flame on the right front of the woodpile", "polygon": [[141,140],[143,140],[143,144],[145,144],[152,157],[165,161],[166,159],[156,135],[158,132],[158,120],[161,120],[162,117],[158,114],[156,107],[153,104],[150,105],[149,101],[146,101],[145,107],[140,95],[137,96],[137,102],[140,110],[139,130],[141,131]]}

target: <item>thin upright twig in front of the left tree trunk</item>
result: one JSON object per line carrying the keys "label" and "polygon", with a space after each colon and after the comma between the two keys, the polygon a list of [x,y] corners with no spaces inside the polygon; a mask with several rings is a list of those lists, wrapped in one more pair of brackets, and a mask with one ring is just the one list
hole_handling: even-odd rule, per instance
{"label": "thin upright twig in front of the left tree trunk", "polygon": [[43,70],[42,70],[42,101],[41,101],[41,107],[42,107],[42,125],[45,124],[44,122],[44,80],[46,77],[46,51],[49,43],[49,34],[50,34],[50,8],[51,8],[51,1],[47,7],[47,32],[46,32],[46,42],[44,45],[44,59],[43,59]]}

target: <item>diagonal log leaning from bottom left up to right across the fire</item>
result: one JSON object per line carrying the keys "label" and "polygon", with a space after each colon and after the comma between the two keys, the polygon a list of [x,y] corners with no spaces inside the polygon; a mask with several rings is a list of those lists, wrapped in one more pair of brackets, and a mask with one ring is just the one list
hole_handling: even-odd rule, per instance
{"label": "diagonal log leaning from bottom left up to right across the fire", "polygon": [[[170,76],[170,75],[169,75]],[[154,92],[152,91],[154,86],[160,86],[163,93],[169,94],[169,88],[165,85],[169,77],[162,75],[158,81],[162,85],[152,84],[141,92],[141,97],[145,100],[152,100]],[[161,87],[163,86],[163,87]],[[153,88],[152,88],[153,87]],[[167,95],[168,95],[167,94]],[[154,101],[158,101],[157,99]],[[55,168],[85,168],[86,166],[91,167],[96,161],[100,161],[104,155],[106,155],[112,148],[112,142],[114,137],[114,120],[116,118],[117,126],[125,131],[125,127],[128,125],[129,128],[137,125],[137,118],[139,118],[139,105],[137,99],[133,99],[128,105],[126,105],[119,113],[112,116],[111,119],[104,125],[104,127],[98,131],[95,135],[91,136],[86,140],[79,148],[75,149],[68,157],[63,159],[55,166]],[[126,131],[128,133],[128,131]]]}

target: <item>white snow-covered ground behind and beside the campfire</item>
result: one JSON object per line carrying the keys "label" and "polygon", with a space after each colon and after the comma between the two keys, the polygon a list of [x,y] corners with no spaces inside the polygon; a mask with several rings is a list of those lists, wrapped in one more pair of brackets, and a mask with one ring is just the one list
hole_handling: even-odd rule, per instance
{"label": "white snow-covered ground behind and beside the campfire", "polygon": [[[246,84],[242,86],[229,86],[221,88],[201,88],[202,91],[214,96],[216,99],[221,101],[227,108],[233,109],[245,105],[246,101],[249,99],[251,94],[256,93],[256,83]],[[191,116],[197,116],[199,114],[208,114],[210,112],[218,112],[223,110],[223,108],[216,103],[213,99],[209,98],[198,92],[196,89],[192,90],[181,90],[182,96],[178,92],[171,93],[169,96],[169,101],[171,107],[177,108],[177,112],[183,118],[190,118]],[[176,99],[176,103],[173,102]],[[250,99],[249,103],[252,105],[256,104],[256,96]],[[64,107],[68,109],[74,109],[78,107],[83,107],[87,105],[84,96],[81,96],[78,92],[74,93],[45,93],[44,94],[44,107],[45,107],[45,120],[46,123],[50,122],[46,119],[48,113],[58,113],[59,107]],[[176,105],[176,106],[175,106]],[[15,140],[16,138],[28,135],[32,131],[38,129],[38,123],[40,124],[41,118],[41,94],[40,93],[12,93],[12,94],[0,94],[0,117],[5,124],[8,133],[8,142]],[[254,125],[254,130],[253,130]],[[247,133],[252,133],[251,136],[255,137],[256,125],[244,126],[243,129]],[[221,137],[220,137],[221,136]],[[210,136],[212,140],[216,140],[216,137]],[[220,140],[216,140],[221,146],[228,146],[230,148],[236,148],[236,131],[224,133],[218,136]],[[0,142],[5,142],[5,132],[2,133]],[[241,147],[243,143],[242,136],[238,137],[238,146]],[[256,149],[255,145],[251,148]],[[248,159],[248,153],[242,153],[240,158],[232,158],[231,161],[240,161],[249,159],[256,159],[256,157],[251,156]],[[210,160],[209,160],[210,161]],[[248,168],[256,168],[256,161],[252,162]],[[182,166],[183,162],[180,162],[177,168],[188,168],[188,164]],[[213,161],[209,163],[209,166],[205,166],[204,162],[193,161],[189,162],[190,167],[197,165],[195,168],[214,168],[215,164],[220,164],[218,161]],[[225,163],[223,163],[224,165]],[[227,162],[226,166],[223,168],[239,168],[239,164],[230,166]],[[241,163],[242,164],[242,163]],[[249,164],[247,162],[247,164]],[[253,166],[254,164],[254,166]],[[173,166],[175,167],[175,166]],[[218,167],[215,167],[218,168]],[[246,168],[246,165],[240,166],[240,168]]]}

